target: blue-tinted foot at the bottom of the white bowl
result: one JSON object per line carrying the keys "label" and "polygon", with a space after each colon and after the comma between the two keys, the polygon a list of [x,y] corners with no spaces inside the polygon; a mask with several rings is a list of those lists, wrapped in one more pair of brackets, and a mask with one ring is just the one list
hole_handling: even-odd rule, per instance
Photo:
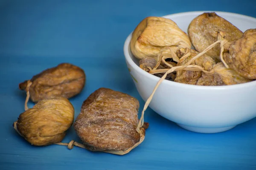
{"label": "blue-tinted foot at the bottom of the white bowl", "polygon": [[235,126],[228,126],[228,127],[219,127],[219,128],[204,128],[204,127],[193,127],[193,126],[186,126],[186,125],[181,125],[178,124],[178,126],[182,127],[183,129],[192,131],[192,132],[198,132],[198,133],[219,133],[219,132],[224,132],[227,130],[230,130],[234,128]]}

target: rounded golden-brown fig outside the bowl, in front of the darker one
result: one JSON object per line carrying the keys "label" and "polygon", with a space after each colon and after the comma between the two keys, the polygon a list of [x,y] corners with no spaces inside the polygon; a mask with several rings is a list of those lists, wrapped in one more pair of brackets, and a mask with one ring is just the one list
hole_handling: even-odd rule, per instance
{"label": "rounded golden-brown fig outside the bowl, in front of the darker one", "polygon": [[61,142],[73,120],[74,108],[68,99],[44,99],[20,114],[17,130],[29,143],[45,146]]}

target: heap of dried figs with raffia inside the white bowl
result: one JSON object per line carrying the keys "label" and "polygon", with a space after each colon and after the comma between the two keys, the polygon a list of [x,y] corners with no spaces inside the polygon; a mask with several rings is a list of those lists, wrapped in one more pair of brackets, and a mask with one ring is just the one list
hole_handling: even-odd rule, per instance
{"label": "heap of dried figs with raffia inside the white bowl", "polygon": [[[131,52],[140,68],[190,85],[235,85],[256,79],[256,29],[244,33],[215,12],[195,17],[188,34],[163,17],[135,28]],[[195,49],[192,49],[194,47]]]}

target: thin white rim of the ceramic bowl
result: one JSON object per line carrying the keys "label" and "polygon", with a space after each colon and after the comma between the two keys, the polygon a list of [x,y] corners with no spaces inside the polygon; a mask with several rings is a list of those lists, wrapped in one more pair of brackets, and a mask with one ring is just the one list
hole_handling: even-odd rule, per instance
{"label": "thin white rim of the ceramic bowl", "polygon": [[[202,14],[204,12],[215,12],[219,15],[224,14],[224,15],[229,15],[233,17],[239,17],[239,18],[246,18],[249,20],[252,20],[253,22],[256,23],[256,18],[250,17],[247,15],[243,14],[237,14],[237,13],[232,13],[232,12],[224,12],[224,11],[188,11],[188,12],[180,12],[180,13],[175,13],[175,14],[168,14],[164,15],[163,17],[177,17],[177,16],[186,16],[189,14]],[[125,55],[125,59],[128,62],[129,65],[131,65],[132,68],[134,68],[139,74],[142,74],[143,76],[147,77],[148,79],[152,79],[155,82],[158,82],[160,80],[159,77],[154,76],[152,74],[149,74],[148,72],[144,71],[141,69],[132,59],[129,54],[129,49],[130,49],[130,41],[131,41],[131,35],[133,31],[128,35],[128,37],[125,40],[124,46],[123,46],[123,51]],[[164,79],[161,84],[165,85],[171,85],[171,86],[177,86],[178,88],[191,88],[191,89],[202,89],[202,90],[235,90],[235,89],[241,89],[241,88],[249,88],[249,87],[256,87],[256,80],[252,82],[246,82],[246,83],[241,83],[241,84],[236,84],[236,85],[223,85],[223,86],[201,86],[201,85],[189,85],[189,84],[183,84],[180,82],[173,82],[170,80]]]}

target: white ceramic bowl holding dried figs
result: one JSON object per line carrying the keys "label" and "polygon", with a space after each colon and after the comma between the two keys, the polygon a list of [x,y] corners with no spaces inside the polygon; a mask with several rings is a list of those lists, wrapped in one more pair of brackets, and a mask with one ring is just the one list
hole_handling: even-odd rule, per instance
{"label": "white ceramic bowl holding dried figs", "polygon": [[[189,23],[209,11],[185,12],[164,16],[187,33]],[[256,19],[241,14],[215,11],[241,31],[256,28]],[[137,91],[144,101],[151,95],[159,77],[143,71],[130,50],[131,34],[125,40],[124,54]],[[198,86],[163,80],[149,107],[184,129],[217,133],[256,117],[256,81],[227,86]],[[145,117],[147,111],[145,111]]]}

